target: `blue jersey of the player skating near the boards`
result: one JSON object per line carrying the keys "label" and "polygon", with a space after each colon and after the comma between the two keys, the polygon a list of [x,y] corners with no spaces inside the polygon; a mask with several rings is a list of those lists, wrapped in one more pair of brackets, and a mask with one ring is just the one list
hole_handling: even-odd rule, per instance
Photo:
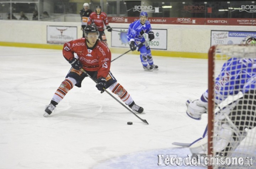
{"label": "blue jersey of the player skating near the boards", "polygon": [[141,24],[140,20],[137,20],[129,25],[127,38],[128,41],[135,41],[136,44],[145,42],[144,36],[140,36],[140,32],[142,31],[148,33],[151,31],[151,25],[149,21],[146,21],[145,24]]}

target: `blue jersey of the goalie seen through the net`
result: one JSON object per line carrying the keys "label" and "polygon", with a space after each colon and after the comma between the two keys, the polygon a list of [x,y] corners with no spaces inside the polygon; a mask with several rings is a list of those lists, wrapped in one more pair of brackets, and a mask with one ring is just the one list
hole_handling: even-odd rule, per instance
{"label": "blue jersey of the goalie seen through the net", "polygon": [[[215,102],[219,104],[229,95],[249,90],[256,90],[256,59],[230,58],[224,63],[215,80]],[[201,100],[208,101],[208,90],[202,95]]]}

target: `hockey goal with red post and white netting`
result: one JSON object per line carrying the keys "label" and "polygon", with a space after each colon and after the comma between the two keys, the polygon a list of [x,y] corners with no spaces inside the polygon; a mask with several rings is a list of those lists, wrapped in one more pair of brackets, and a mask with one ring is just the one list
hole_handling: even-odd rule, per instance
{"label": "hockey goal with red post and white netting", "polygon": [[256,169],[256,46],[212,46],[208,73],[208,169]]}

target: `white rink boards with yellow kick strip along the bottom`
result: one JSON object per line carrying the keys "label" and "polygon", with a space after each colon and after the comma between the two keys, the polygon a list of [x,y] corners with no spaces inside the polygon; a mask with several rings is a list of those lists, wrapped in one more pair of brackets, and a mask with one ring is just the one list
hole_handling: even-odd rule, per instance
{"label": "white rink boards with yellow kick strip along the bottom", "polygon": [[[47,26],[77,27],[77,37],[82,37],[80,22],[0,21],[0,45],[29,48],[62,49],[63,45],[47,44]],[[128,28],[128,23],[110,23],[113,28]],[[155,56],[207,58],[211,30],[254,31],[254,26],[212,26],[151,24],[153,29],[167,29],[167,50],[152,50]],[[112,53],[124,53],[128,48],[111,47],[111,32],[105,31]],[[166,39],[164,39],[166,40]],[[130,52],[139,54],[138,51]]]}

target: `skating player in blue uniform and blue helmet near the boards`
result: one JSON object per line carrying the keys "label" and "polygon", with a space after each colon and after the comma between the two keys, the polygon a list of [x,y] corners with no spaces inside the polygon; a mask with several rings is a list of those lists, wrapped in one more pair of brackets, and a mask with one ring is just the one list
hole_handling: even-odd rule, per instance
{"label": "skating player in blue uniform and blue helmet near the boards", "polygon": [[158,66],[154,65],[149,44],[146,42],[143,34],[147,33],[149,41],[155,38],[154,32],[151,30],[150,22],[148,21],[148,13],[140,12],[140,20],[137,20],[129,25],[127,38],[130,42],[132,51],[140,51],[140,60],[145,71],[158,70]]}

